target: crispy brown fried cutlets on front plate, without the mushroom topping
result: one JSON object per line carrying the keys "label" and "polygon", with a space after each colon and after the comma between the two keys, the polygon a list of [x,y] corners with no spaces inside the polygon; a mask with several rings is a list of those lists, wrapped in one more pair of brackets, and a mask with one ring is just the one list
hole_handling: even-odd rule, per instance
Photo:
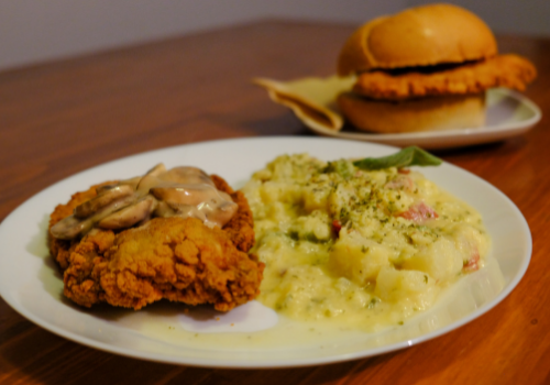
{"label": "crispy brown fried cutlets on front plate, without the mushroom topping", "polygon": [[[51,253],[64,270],[64,295],[85,307],[107,301],[135,310],[166,298],[228,311],[255,298],[264,264],[246,254],[254,244],[252,212],[242,193],[221,177],[212,180],[239,205],[223,229],[194,218],[156,218],[119,233],[95,229],[76,241],[51,237]],[[50,227],[92,198],[98,186],[59,205]]]}

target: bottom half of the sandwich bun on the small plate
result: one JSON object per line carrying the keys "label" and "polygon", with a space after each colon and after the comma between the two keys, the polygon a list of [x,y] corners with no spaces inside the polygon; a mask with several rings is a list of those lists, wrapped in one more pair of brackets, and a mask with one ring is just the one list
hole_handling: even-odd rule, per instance
{"label": "bottom half of the sandwich bun on the small plate", "polygon": [[405,101],[375,100],[344,92],[338,97],[338,106],[351,124],[363,131],[402,133],[485,124],[485,92]]}

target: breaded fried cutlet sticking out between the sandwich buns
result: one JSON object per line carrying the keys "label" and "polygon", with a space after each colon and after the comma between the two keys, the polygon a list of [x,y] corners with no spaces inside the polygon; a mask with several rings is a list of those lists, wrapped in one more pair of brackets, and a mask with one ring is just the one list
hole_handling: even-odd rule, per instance
{"label": "breaded fried cutlet sticking out between the sandwich buns", "polygon": [[535,66],[517,55],[501,55],[429,74],[400,75],[375,70],[360,75],[353,90],[372,99],[405,100],[428,96],[480,94],[493,87],[522,91],[537,76]]}

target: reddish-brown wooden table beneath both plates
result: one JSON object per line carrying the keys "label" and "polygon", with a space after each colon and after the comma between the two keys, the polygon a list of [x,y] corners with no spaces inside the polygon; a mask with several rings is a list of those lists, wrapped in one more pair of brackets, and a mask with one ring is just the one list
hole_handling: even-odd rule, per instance
{"label": "reddish-brown wooden table beneath both plates", "polygon": [[[0,220],[32,195],[121,156],[213,139],[309,135],[254,76],[334,73],[350,25],[265,21],[0,73]],[[517,288],[429,342],[339,364],[216,370],[144,362],[57,337],[0,300],[1,384],[549,384],[550,40],[498,36],[540,74],[526,135],[439,153],[522,211],[534,239]]]}

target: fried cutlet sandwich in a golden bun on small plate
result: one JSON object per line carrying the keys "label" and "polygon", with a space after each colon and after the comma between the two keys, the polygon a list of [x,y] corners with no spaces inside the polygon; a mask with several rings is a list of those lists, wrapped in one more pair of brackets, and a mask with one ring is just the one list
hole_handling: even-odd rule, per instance
{"label": "fried cutlet sandwich in a golden bun on small plate", "polygon": [[522,91],[537,70],[521,56],[499,55],[479,16],[441,3],[362,25],[341,50],[338,75],[356,76],[338,96],[352,125],[403,133],[483,127],[487,89]]}

